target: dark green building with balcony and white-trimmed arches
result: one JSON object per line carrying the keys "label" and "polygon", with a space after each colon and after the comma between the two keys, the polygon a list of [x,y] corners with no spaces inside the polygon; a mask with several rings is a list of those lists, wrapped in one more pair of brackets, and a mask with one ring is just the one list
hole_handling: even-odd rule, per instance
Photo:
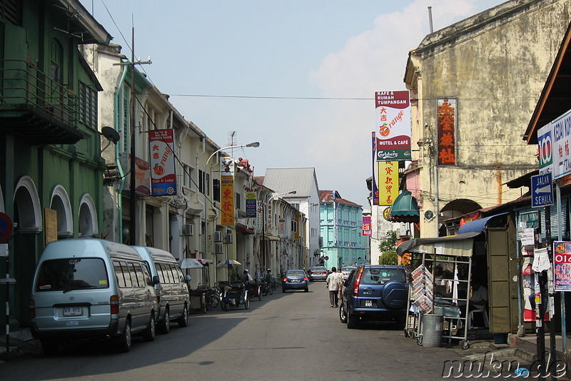
{"label": "dark green building with balcony and white-trimmed arches", "polygon": [[31,281],[46,242],[99,235],[102,88],[78,46],[110,40],[79,1],[0,2],[0,212],[14,223],[0,273],[15,280],[0,285],[0,332],[6,287],[10,331],[29,325]]}

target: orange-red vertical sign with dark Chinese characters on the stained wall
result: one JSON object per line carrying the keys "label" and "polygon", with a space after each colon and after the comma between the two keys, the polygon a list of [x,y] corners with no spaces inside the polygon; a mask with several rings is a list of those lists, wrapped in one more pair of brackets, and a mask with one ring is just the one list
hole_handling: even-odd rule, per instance
{"label": "orange-red vertical sign with dark Chinese characters on the stained wall", "polygon": [[452,98],[438,99],[438,165],[456,165],[456,103]]}

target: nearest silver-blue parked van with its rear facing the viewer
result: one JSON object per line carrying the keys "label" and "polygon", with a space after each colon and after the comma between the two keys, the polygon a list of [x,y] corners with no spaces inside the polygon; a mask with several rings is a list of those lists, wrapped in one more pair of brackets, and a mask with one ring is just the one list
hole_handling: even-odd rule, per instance
{"label": "nearest silver-blue parked van with its rear facing the viewer", "polygon": [[81,337],[114,337],[128,352],[132,334],[154,340],[157,310],[151,273],[128,245],[76,238],[49,243],[41,254],[30,317],[46,354]]}

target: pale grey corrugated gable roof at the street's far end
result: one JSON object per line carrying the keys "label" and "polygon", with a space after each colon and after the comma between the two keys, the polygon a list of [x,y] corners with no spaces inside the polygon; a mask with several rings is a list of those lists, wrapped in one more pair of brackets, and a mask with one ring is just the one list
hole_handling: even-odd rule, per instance
{"label": "pale grey corrugated gable roof at the street's far end", "polygon": [[268,168],[263,185],[277,193],[295,191],[295,198],[311,196],[311,186],[319,189],[315,168]]}

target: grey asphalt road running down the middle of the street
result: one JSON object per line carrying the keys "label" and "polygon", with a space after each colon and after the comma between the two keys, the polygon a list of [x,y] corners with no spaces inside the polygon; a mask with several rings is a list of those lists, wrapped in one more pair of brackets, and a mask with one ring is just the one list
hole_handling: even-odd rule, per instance
{"label": "grey asphalt road running down the middle of the street", "polygon": [[278,289],[249,310],[193,314],[131,352],[110,342],[61,347],[0,365],[0,380],[442,380],[459,350],[420,347],[393,325],[348,330],[330,308],[325,283],[310,292]]}

